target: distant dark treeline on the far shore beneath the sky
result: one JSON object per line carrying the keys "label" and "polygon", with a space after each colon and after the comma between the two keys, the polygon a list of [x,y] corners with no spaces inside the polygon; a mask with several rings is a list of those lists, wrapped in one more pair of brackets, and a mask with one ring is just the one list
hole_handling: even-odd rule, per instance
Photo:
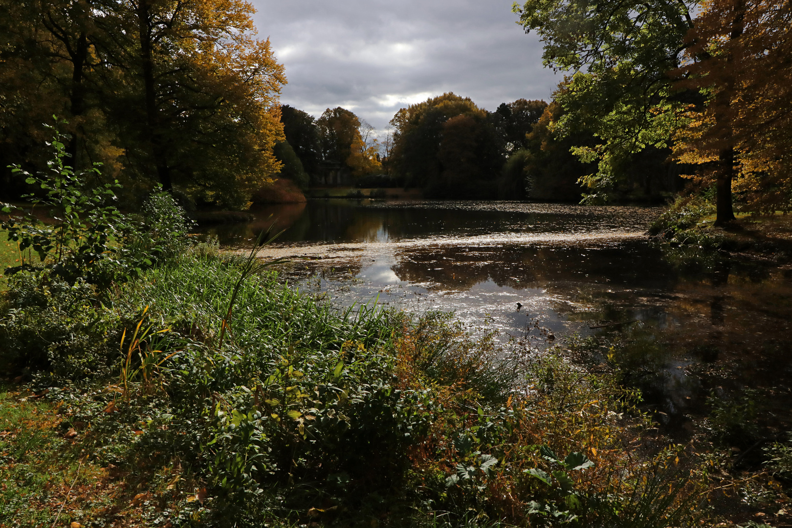
{"label": "distant dark treeline on the far shore beneath the sky", "polygon": [[558,110],[518,99],[488,112],[469,97],[444,93],[400,109],[375,138],[371,125],[345,108],[314,119],[284,105],[286,144],[299,158],[284,173],[303,170],[313,185],[422,188],[430,198],[577,201],[577,181],[590,167],[570,153],[571,139],[552,135],[548,125]]}

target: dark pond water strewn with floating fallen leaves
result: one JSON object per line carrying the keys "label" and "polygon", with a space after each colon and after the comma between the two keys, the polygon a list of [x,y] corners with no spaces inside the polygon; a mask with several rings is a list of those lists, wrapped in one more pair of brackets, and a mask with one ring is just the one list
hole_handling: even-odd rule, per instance
{"label": "dark pond water strewn with floating fallen leaves", "polygon": [[558,343],[575,332],[631,332],[642,345],[626,363],[653,380],[645,389],[661,419],[680,427],[705,412],[710,393],[744,387],[775,395],[786,420],[792,269],[728,259],[684,271],[645,236],[659,212],[324,199],[262,208],[253,222],[204,232],[244,248],[262,230],[285,229],[262,254],[301,257],[285,276],[342,306],[454,311],[471,329],[536,346],[550,335]]}

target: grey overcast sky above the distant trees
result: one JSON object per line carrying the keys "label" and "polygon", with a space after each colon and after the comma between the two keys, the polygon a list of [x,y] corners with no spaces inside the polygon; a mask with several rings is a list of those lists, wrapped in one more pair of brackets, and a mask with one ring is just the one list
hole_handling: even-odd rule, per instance
{"label": "grey overcast sky above the distant trees", "polygon": [[548,100],[562,74],[542,66],[512,0],[250,0],[289,80],[281,102],[319,116],[343,106],[382,129],[398,108],[444,92],[498,104]]}

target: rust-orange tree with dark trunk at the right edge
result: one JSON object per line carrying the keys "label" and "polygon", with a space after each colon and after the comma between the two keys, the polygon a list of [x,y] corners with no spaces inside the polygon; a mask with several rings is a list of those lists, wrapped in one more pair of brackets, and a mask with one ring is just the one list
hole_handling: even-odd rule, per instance
{"label": "rust-orange tree with dark trunk at the right edge", "polygon": [[716,184],[716,222],[734,218],[738,181],[759,211],[792,209],[792,7],[779,0],[710,0],[687,40],[681,89],[707,94],[683,112],[677,154]]}

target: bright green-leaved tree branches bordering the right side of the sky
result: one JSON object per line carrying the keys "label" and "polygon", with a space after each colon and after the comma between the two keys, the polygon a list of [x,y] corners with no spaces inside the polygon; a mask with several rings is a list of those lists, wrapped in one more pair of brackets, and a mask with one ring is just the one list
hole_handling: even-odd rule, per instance
{"label": "bright green-leaved tree branches bordering the right side of the sky", "polygon": [[[667,72],[680,66],[693,21],[689,0],[577,2],[527,0],[515,5],[526,32],[544,42],[543,62],[573,71],[556,101],[564,112],[552,127],[560,136],[590,130],[595,146],[580,146],[582,161],[599,162],[583,178],[597,198],[629,179],[630,159],[645,148],[667,149],[680,104]],[[599,193],[600,196],[597,196]]]}

